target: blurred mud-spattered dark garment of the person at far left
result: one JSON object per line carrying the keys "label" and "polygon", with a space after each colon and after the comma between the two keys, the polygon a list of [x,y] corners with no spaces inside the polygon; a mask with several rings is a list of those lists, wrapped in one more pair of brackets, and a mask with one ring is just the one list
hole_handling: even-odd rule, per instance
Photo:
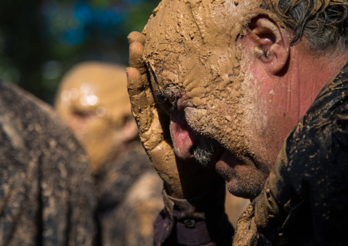
{"label": "blurred mud-spattered dark garment of the person at far left", "polygon": [[0,82],[0,245],[92,245],[86,154],[46,103]]}

